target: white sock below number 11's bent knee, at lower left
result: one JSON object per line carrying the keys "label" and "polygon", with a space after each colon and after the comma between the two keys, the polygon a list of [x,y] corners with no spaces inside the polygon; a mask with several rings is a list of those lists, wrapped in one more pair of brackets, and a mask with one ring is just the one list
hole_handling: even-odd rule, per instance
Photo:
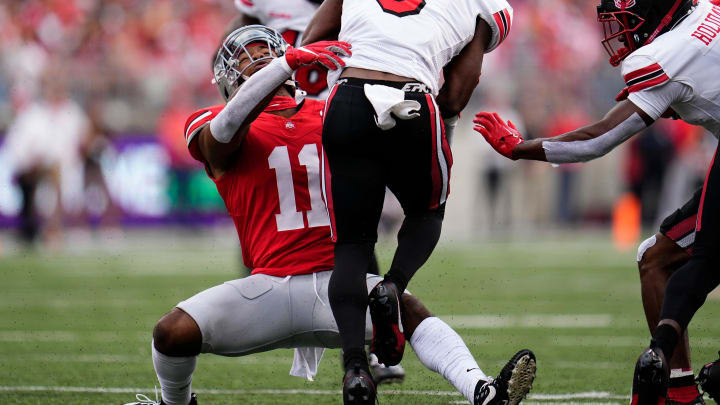
{"label": "white sock below number 11's bent knee, at lower left", "polygon": [[155,349],[154,342],[152,353],[163,402],[166,405],[187,405],[190,402],[192,373],[195,371],[197,356],[166,356]]}

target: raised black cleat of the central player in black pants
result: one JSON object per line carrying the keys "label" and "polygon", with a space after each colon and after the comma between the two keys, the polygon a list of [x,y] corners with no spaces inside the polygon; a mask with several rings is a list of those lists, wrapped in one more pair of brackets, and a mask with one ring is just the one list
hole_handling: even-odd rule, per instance
{"label": "raised black cleat of the central player in black pants", "polygon": [[395,366],[405,352],[405,335],[400,321],[400,294],[395,284],[379,282],[368,296],[373,338],[370,352],[386,366]]}

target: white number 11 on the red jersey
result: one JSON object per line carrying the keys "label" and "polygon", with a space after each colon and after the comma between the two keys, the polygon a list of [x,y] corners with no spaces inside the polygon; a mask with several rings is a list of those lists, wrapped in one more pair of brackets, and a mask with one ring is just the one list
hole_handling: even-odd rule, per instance
{"label": "white number 11 on the red jersey", "polygon": [[[310,211],[306,211],[308,227],[330,226],[325,203],[320,191],[320,158],[317,145],[314,143],[303,146],[298,154],[300,164],[305,166],[308,176],[308,192],[310,193]],[[277,146],[268,157],[268,164],[275,170],[278,185],[280,213],[275,214],[279,231],[303,229],[305,222],[303,213],[298,211],[295,203],[295,186],[293,184],[290,155],[287,146]]]}

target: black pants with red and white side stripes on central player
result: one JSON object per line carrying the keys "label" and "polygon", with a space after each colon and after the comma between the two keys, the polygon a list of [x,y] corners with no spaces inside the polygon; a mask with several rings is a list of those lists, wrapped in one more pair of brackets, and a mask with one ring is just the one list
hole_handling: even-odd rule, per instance
{"label": "black pants with red and white side stripes on central player", "polygon": [[[381,130],[365,84],[406,89],[420,116],[395,118]],[[375,242],[389,188],[405,215],[443,209],[450,193],[452,154],[440,111],[422,84],[341,79],[331,90],[323,122],[323,187],[333,240]]]}

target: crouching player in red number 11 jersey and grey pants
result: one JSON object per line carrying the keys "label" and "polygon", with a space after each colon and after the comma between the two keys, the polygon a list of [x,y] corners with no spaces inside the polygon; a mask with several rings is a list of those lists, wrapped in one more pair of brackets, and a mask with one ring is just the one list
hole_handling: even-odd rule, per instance
{"label": "crouching player in red number 11 jersey and grey pants", "polygon": [[[162,399],[139,395],[145,402],[135,404],[197,404],[191,383],[200,353],[245,356],[295,348],[291,374],[312,379],[323,348],[340,346],[328,304],[333,244],[320,186],[325,103],[296,104],[289,79],[309,64],[336,69],[344,64],[339,56],[349,54],[343,42],[292,48],[277,31],[258,25],[240,28],[224,41],[214,71],[229,101],[192,114],[185,137],[225,201],[243,258],[254,270],[180,302],[158,321],[152,358]],[[367,275],[366,292],[380,281]],[[403,294],[402,304],[404,334],[420,361],[468,401],[515,405],[527,394],[535,377],[529,350],[489,378],[460,336],[417,298]],[[365,331],[366,340],[371,335]],[[518,364],[532,372],[518,372]],[[347,403],[374,403],[373,379],[362,383],[366,389],[348,392]],[[492,395],[484,394],[488,391]]]}

